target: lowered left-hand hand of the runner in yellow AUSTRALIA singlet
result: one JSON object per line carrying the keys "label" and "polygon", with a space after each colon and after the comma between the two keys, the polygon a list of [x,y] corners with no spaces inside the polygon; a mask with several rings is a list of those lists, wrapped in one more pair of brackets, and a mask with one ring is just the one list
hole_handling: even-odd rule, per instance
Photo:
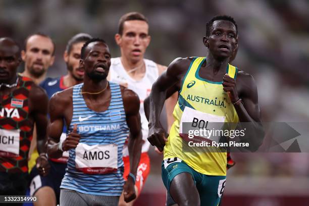
{"label": "lowered left-hand hand of the runner in yellow AUSTRALIA singlet", "polygon": [[163,151],[165,142],[168,141],[168,134],[160,127],[150,127],[148,132],[148,141],[152,146],[156,146],[159,151]]}

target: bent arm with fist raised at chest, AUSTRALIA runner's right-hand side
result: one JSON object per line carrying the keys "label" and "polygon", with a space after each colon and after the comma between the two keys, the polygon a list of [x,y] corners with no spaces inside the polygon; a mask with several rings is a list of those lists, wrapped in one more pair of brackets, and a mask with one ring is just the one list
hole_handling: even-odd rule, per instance
{"label": "bent arm with fist raised at chest, AUSTRALIA runner's right-hand side", "polygon": [[[240,87],[237,89],[237,87]],[[235,103],[234,108],[239,118],[239,124],[245,124],[246,141],[250,143],[250,150],[254,151],[261,146],[264,139],[264,129],[261,123],[261,110],[258,102],[258,89],[256,88],[253,77],[243,71],[237,74],[237,84],[235,79],[225,75],[223,78],[224,90],[228,92],[231,102]],[[248,138],[250,137],[250,138]]]}

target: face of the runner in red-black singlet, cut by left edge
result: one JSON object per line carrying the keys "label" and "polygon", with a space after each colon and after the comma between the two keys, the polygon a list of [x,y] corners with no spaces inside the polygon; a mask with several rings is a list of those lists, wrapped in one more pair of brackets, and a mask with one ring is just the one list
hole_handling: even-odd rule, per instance
{"label": "face of the runner in red-black singlet, cut by left edge", "polygon": [[21,62],[18,46],[2,38],[0,40],[0,83],[13,83],[16,70]]}

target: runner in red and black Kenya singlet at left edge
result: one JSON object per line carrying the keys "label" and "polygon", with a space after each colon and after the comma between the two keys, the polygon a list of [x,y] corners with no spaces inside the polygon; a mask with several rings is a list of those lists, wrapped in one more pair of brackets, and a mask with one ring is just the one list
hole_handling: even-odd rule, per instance
{"label": "runner in red and black Kenya singlet at left edge", "polygon": [[16,74],[20,49],[13,39],[0,38],[0,195],[24,195],[28,185],[28,152],[37,125],[37,168],[48,173],[45,153],[47,103],[45,92]]}

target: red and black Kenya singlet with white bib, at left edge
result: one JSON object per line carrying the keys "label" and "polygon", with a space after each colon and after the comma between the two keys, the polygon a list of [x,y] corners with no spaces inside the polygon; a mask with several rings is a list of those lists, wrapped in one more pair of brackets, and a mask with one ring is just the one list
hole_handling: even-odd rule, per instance
{"label": "red and black Kenya singlet with white bib, at left edge", "polygon": [[[0,172],[28,172],[28,151],[33,132],[33,120],[29,118],[28,97],[32,85],[33,82],[30,78],[18,75],[14,91],[2,97],[0,105]],[[7,132],[10,134],[6,136]],[[14,136],[15,134],[19,136]],[[16,137],[19,138],[19,141],[16,141],[18,140],[15,139]],[[18,145],[19,149],[16,150]]]}

